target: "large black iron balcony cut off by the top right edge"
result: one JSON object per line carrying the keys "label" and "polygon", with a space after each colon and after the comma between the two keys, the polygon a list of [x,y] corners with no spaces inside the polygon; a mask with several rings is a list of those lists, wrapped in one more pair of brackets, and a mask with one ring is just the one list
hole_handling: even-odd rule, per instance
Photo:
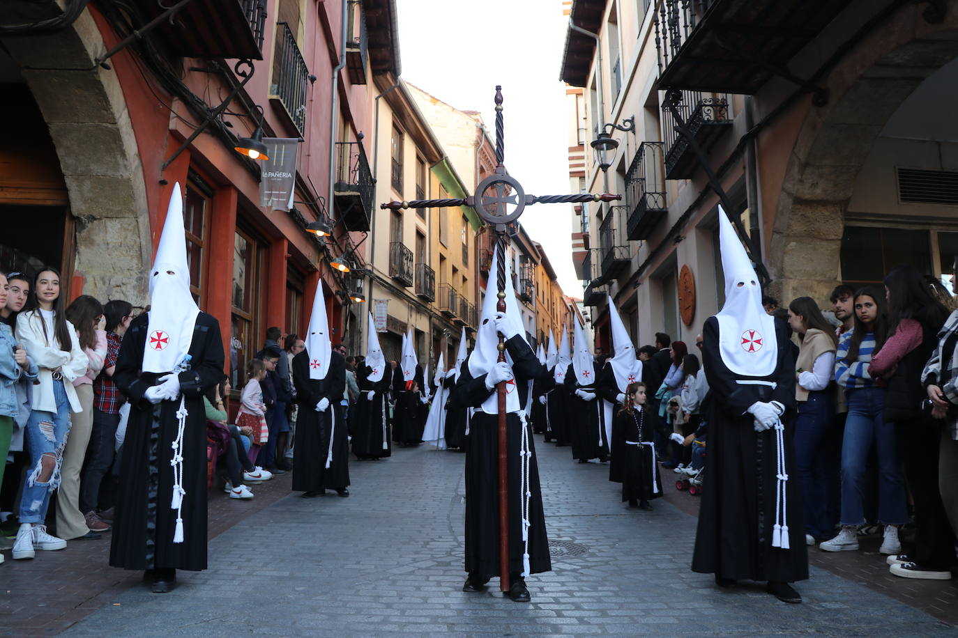
{"label": "large black iron balcony cut off by the top right edge", "polygon": [[[648,3],[647,3],[648,4]],[[660,89],[757,93],[850,0],[662,0],[654,19]]]}

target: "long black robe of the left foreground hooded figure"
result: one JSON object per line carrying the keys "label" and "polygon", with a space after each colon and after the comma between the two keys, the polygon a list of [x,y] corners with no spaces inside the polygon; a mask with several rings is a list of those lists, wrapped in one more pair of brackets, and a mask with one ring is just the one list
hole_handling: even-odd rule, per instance
{"label": "long black robe of the left foreground hooded figure", "polygon": [[148,315],[130,323],[117,356],[113,381],[130,403],[110,542],[110,564],[125,569],[206,569],[206,410],[203,394],[225,377],[223,341],[217,319],[199,313],[190,343],[191,368],[179,374],[186,397],[183,433],[183,542],[174,543],[171,509],[171,444],[180,400],[155,406],[148,387],[164,374],[142,372]]}

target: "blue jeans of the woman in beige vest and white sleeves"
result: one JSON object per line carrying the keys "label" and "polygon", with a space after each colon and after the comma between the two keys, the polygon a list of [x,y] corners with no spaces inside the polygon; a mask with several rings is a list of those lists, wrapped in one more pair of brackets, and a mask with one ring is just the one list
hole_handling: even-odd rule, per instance
{"label": "blue jeans of the woman in beige vest and white sleeves", "polygon": [[833,536],[826,514],[829,490],[825,447],[826,434],[833,427],[833,417],[834,408],[828,392],[809,392],[809,399],[798,404],[793,435],[795,467],[802,485],[802,504],[805,506],[805,533],[818,540],[831,539]]}

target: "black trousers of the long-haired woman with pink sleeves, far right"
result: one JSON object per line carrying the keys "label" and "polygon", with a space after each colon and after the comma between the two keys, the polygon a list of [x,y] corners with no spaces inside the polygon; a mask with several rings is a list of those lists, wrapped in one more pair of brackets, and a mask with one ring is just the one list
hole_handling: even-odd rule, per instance
{"label": "black trousers of the long-haired woman with pink sleeves, far right", "polygon": [[895,429],[915,504],[915,549],[908,556],[924,567],[948,569],[956,563],[955,536],[938,488],[941,423],[919,418],[896,423]]}

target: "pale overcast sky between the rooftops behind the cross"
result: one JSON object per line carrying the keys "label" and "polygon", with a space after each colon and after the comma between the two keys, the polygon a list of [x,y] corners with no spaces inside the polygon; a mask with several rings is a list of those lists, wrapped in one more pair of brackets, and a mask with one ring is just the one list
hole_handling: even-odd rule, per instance
{"label": "pale overcast sky between the rooftops behind the cross", "polygon": [[[559,81],[565,28],[561,0],[398,0],[402,77],[494,131],[502,85],[506,167],[527,193],[569,192],[565,84]],[[494,133],[492,133],[494,135]],[[494,138],[493,138],[494,139]],[[536,205],[522,213],[566,295],[582,297],[572,267],[572,208]]]}

